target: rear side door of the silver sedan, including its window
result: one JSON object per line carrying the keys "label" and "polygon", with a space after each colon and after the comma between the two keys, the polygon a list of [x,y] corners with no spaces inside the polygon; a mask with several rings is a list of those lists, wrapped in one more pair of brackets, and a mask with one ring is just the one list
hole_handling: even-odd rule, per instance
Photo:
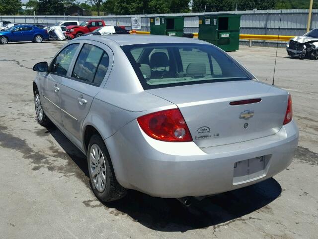
{"label": "rear side door of the silver sedan, including its window", "polygon": [[83,41],[69,77],[62,83],[62,119],[65,134],[81,147],[81,125],[112,65],[112,51],[101,43]]}

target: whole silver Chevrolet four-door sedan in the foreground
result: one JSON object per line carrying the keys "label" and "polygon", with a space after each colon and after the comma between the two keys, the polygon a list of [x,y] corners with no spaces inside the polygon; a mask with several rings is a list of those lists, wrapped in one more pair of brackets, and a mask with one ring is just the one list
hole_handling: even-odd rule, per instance
{"label": "whole silver Chevrolet four-door sedan in the foreground", "polygon": [[298,144],[289,93],[204,41],[85,36],[33,69],[39,123],[87,155],[101,201],[245,187],[284,170]]}

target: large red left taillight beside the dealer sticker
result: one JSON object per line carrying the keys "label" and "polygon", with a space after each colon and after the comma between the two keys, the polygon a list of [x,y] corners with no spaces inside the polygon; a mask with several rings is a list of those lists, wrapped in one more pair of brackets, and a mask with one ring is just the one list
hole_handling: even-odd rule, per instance
{"label": "large red left taillight beside the dealer sticker", "polygon": [[159,111],[137,119],[144,132],[167,142],[189,142],[192,137],[179,109]]}

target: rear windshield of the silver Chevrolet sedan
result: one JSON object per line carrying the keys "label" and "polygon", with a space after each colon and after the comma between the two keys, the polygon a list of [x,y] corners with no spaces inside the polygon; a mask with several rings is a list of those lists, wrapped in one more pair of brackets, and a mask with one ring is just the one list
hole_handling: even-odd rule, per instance
{"label": "rear windshield of the silver Chevrolet sedan", "polygon": [[122,49],[145,90],[251,79],[236,62],[212,45],[142,44]]}

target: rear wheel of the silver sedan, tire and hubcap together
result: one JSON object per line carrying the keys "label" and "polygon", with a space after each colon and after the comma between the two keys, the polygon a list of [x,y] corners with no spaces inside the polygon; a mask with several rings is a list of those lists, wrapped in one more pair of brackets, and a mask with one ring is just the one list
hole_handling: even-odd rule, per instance
{"label": "rear wheel of the silver sedan, tire and hubcap together", "polygon": [[127,189],[117,182],[106,145],[97,134],[89,140],[87,164],[90,187],[100,201],[115,201],[127,194]]}

